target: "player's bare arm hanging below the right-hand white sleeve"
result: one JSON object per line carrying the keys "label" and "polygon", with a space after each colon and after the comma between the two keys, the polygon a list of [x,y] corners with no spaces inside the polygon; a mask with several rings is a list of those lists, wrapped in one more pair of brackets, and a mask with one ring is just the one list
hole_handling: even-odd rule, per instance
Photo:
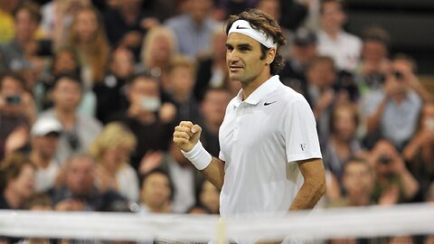
{"label": "player's bare arm hanging below the right-hand white sleeve", "polygon": [[313,209],[325,194],[325,172],[321,159],[300,162],[298,168],[305,181],[292,202],[290,211]]}

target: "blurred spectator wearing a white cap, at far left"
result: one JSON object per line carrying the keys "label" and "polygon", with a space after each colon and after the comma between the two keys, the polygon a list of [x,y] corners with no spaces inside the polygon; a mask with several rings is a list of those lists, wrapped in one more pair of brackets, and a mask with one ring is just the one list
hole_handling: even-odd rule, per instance
{"label": "blurred spectator wearing a white cap, at far left", "polygon": [[59,174],[60,162],[56,160],[55,155],[61,130],[61,122],[56,118],[40,117],[30,131],[32,149],[29,158],[36,166],[36,192],[45,192],[52,188]]}

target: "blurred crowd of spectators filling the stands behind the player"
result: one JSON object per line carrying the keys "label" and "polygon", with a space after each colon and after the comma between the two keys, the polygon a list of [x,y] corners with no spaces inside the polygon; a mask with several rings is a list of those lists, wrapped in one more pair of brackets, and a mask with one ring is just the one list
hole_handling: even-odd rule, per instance
{"label": "blurred crowd of spectators filling the stands behind the player", "polygon": [[[434,202],[434,103],[379,25],[347,33],[338,0],[0,0],[0,209],[218,213],[171,141],[219,154],[224,20],[255,7],[288,44],[279,73],[316,117],[321,207]],[[351,17],[351,16],[350,16]]]}

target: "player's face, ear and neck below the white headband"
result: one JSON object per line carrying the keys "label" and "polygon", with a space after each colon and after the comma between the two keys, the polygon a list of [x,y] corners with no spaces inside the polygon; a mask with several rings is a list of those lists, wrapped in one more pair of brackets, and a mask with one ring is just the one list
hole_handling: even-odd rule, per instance
{"label": "player's face, ear and neck below the white headband", "polygon": [[266,80],[269,80],[269,64],[274,61],[275,49],[261,60],[260,43],[241,33],[231,33],[226,41],[226,62],[231,81],[241,82],[243,99]]}

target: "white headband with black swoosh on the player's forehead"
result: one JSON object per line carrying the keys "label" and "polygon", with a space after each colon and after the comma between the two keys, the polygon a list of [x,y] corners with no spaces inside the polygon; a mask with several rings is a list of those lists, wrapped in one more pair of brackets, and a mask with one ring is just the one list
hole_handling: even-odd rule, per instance
{"label": "white headband with black swoosh on the player's forehead", "polygon": [[232,23],[228,35],[230,33],[245,34],[255,39],[256,41],[260,42],[261,44],[263,44],[268,48],[278,49],[278,43],[274,43],[273,38],[269,37],[269,35],[267,33],[264,33],[263,31],[258,31],[253,29],[250,23],[245,20],[238,20]]}

